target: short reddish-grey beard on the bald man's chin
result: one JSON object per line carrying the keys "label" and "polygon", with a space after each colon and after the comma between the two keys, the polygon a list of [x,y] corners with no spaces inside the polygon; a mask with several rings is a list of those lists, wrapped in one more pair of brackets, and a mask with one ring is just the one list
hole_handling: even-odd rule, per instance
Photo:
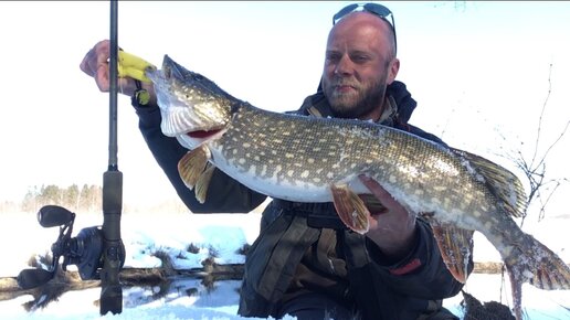
{"label": "short reddish-grey beard on the bald man's chin", "polygon": [[[327,97],[330,109],[339,118],[362,118],[383,104],[387,88],[388,72],[369,83],[359,83],[353,77],[335,76],[323,78],[323,92]],[[338,86],[350,86],[349,93],[338,92]]]}

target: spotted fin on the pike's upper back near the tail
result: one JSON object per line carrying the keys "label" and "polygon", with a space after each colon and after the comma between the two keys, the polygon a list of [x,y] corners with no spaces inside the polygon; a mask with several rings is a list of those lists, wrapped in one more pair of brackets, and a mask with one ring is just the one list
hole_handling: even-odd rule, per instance
{"label": "spotted fin on the pike's upper back near the tail", "polygon": [[516,217],[524,215],[527,206],[525,188],[513,172],[477,154],[451,149],[468,161],[465,166],[471,166],[475,174],[481,174],[505,212]]}

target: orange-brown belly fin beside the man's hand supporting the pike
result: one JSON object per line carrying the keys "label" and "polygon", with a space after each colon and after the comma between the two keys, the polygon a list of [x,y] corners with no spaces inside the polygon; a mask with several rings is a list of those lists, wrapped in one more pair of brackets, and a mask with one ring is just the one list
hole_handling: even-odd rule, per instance
{"label": "orange-brown belly fin beside the man's hand supporting the pike", "polygon": [[370,227],[368,217],[370,212],[366,207],[365,202],[352,192],[348,185],[331,185],[332,202],[337,214],[350,230],[365,234]]}

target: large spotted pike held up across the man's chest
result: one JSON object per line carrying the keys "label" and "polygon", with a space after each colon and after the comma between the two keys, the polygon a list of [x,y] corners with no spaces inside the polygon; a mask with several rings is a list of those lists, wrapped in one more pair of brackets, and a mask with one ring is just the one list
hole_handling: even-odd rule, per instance
{"label": "large spotted pike held up across the man's chest", "polygon": [[162,115],[161,130],[190,151],[179,162],[189,188],[205,200],[212,168],[249,188],[298,202],[334,202],[351,230],[368,231],[369,210],[358,194],[367,174],[431,223],[451,274],[466,281],[473,232],[497,248],[521,319],[521,286],[570,289],[569,267],[524,233],[513,217],[525,210],[515,174],[466,151],[360,120],[271,113],[232,97],[167,55],[147,70]]}

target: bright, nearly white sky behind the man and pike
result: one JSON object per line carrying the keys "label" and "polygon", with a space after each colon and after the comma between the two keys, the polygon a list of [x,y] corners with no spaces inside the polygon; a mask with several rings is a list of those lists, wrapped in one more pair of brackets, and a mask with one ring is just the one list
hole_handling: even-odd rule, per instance
{"label": "bright, nearly white sky behind the man and pike", "polygon": [[[257,107],[296,109],[317,87],[331,15],[348,3],[122,1],[119,45],[155,64],[169,54]],[[412,124],[508,167],[497,154],[530,152],[550,89],[542,151],[560,135],[570,119],[570,2],[381,3],[395,15],[398,79],[419,102]],[[78,65],[108,24],[107,1],[0,2],[0,200],[33,185],[102,183],[108,96]],[[568,135],[550,153],[550,178],[570,178]],[[118,139],[125,202],[176,198],[127,97]],[[559,189],[555,203],[569,192]]]}

